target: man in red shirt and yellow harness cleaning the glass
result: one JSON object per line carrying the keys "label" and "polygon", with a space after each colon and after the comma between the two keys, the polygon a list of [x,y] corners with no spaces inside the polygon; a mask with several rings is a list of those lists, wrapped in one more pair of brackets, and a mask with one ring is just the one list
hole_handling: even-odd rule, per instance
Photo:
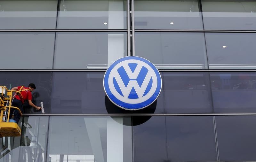
{"label": "man in red shirt and yellow harness cleaning the glass", "polygon": [[[18,107],[20,109],[20,111],[23,113],[22,104],[24,104],[25,100],[28,100],[28,104],[30,106],[36,108],[36,110],[40,110],[41,107],[36,106],[35,104],[32,103],[32,94],[31,94],[31,92],[33,92],[33,90],[35,90],[35,89],[36,89],[36,86],[35,86],[34,83],[30,83],[28,85],[28,87],[22,87],[22,86],[13,87],[11,90],[20,91],[22,97],[20,97],[19,93],[15,93],[14,98],[12,100],[12,106]],[[18,110],[11,108],[9,119],[11,119],[13,111],[14,111],[14,118],[13,119],[18,124],[18,122],[20,120],[20,113],[19,113]]]}

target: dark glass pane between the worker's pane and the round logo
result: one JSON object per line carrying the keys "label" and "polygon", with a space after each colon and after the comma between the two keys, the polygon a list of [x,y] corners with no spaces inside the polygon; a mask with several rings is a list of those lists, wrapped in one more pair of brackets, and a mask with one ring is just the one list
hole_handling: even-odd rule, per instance
{"label": "dark glass pane between the worker's pane and the round logo", "polygon": [[104,72],[54,72],[51,113],[107,113]]}

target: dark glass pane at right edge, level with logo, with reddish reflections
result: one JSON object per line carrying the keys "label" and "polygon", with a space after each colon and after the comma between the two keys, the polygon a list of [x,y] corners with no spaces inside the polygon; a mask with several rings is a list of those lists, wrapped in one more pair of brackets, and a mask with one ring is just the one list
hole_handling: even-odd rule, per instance
{"label": "dark glass pane at right edge, level with logo, with reddish reflections", "polygon": [[256,112],[256,73],[210,73],[214,112]]}

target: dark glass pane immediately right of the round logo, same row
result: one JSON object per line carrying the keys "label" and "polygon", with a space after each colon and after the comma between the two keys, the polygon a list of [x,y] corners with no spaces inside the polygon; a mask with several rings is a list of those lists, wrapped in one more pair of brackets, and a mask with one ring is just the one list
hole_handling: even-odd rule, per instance
{"label": "dark glass pane immediately right of the round logo, same row", "polygon": [[211,113],[209,73],[164,72],[164,105],[167,113]]}

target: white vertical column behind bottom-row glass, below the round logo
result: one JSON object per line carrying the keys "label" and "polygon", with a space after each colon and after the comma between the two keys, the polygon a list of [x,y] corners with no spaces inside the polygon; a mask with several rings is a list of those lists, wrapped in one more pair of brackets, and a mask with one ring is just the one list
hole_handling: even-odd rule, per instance
{"label": "white vertical column behind bottom-row glass, below the round logo", "polygon": [[108,118],[107,143],[107,161],[123,162],[123,118]]}

